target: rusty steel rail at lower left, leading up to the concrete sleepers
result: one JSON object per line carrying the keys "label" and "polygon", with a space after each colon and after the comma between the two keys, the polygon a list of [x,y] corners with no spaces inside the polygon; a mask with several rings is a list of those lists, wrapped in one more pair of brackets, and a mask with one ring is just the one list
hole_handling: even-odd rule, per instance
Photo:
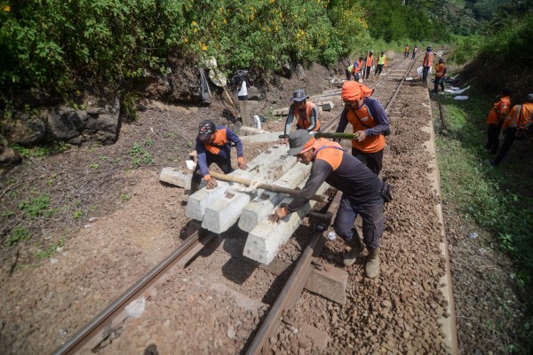
{"label": "rusty steel rail at lower left, leading up to the concrete sleepers", "polygon": [[109,321],[112,321],[119,312],[123,311],[124,304],[137,298],[149,286],[154,284],[160,276],[167,272],[172,266],[179,263],[179,261],[187,263],[187,258],[190,260],[198,253],[195,248],[198,248],[201,244],[207,243],[214,236],[213,233],[206,233],[201,236],[200,231],[191,234],[187,240],[183,241],[183,243],[171,253],[171,255],[165,257],[161,263],[155,265],[152,270],[147,272],[147,274],[128,288],[121,296],[115,298],[111,304],[109,304],[102,312],[99,312],[98,315],[77,331],[66,343],[63,343],[60,348],[53,351],[52,354],[73,354],[77,351],[81,351],[82,346],[85,343],[91,338],[98,336],[99,332],[104,331],[108,326]]}

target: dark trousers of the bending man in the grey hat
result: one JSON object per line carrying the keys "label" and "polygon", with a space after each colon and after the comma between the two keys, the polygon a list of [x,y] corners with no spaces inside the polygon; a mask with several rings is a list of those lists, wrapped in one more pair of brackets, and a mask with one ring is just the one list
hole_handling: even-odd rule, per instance
{"label": "dark trousers of the bending man in the grey hat", "polygon": [[351,201],[349,195],[343,193],[335,218],[335,232],[346,241],[354,237],[355,218],[362,217],[362,242],[367,248],[378,248],[383,234],[383,199],[368,203]]}

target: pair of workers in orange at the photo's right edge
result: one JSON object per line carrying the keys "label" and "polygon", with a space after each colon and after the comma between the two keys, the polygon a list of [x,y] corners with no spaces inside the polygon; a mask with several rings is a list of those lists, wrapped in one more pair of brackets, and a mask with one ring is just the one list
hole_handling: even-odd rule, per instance
{"label": "pair of workers in orange at the photo's right edge", "polygon": [[[512,91],[505,88],[487,115],[487,144],[485,149],[490,154],[497,154],[490,162],[498,166],[513,146],[515,139],[526,138],[533,127],[533,93],[528,95],[521,105],[511,108]],[[500,132],[504,134],[504,143],[499,147]]]}

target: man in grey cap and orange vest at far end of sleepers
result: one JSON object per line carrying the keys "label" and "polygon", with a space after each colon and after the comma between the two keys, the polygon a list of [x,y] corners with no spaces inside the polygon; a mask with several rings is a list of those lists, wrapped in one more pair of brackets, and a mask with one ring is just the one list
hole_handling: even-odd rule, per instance
{"label": "man in grey cap and orange vest at far end of sleepers", "polygon": [[[350,82],[346,82],[350,83]],[[306,92],[303,89],[298,89],[292,93],[292,104],[289,107],[289,114],[287,115],[287,122],[285,122],[285,143],[287,137],[290,135],[290,126],[294,117],[298,119],[296,128],[308,131],[320,131],[320,121],[318,120],[318,107],[313,102],[308,100]]]}

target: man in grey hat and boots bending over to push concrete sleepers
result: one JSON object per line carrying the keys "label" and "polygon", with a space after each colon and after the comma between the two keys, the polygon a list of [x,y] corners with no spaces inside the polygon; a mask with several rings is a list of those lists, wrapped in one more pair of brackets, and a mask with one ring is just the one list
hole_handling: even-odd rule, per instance
{"label": "man in grey hat and boots bending over to push concrete sleepers", "polygon": [[[287,206],[276,209],[271,220],[278,223],[290,213],[301,209],[325,181],[342,192],[337,217],[336,233],[351,247],[344,258],[347,266],[354,264],[364,250],[369,249],[365,273],[369,278],[379,274],[379,242],[383,234],[383,204],[381,192],[387,185],[364,164],[336,142],[326,138],[315,139],[306,130],[297,130],[289,137],[288,155],[296,155],[298,162],[312,163],[311,173],[301,193]],[[362,217],[362,238],[354,228],[355,218]]]}

